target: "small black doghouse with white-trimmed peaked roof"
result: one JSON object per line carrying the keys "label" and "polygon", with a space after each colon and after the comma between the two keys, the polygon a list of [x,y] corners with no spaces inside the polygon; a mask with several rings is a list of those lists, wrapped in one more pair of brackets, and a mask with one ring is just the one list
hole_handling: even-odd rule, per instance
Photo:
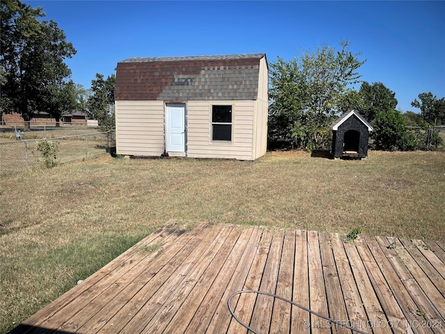
{"label": "small black doghouse with white-trimmed peaked roof", "polygon": [[373,127],[357,111],[344,113],[331,127],[334,158],[368,156],[369,132]]}

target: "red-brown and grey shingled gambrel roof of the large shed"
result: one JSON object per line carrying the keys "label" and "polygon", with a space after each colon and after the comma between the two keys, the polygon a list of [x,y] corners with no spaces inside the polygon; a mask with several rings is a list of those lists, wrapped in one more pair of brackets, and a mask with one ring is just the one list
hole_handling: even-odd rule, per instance
{"label": "red-brown and grey shingled gambrel roof of the large shed", "polygon": [[265,57],[129,58],[118,63],[115,100],[257,100],[259,63]]}

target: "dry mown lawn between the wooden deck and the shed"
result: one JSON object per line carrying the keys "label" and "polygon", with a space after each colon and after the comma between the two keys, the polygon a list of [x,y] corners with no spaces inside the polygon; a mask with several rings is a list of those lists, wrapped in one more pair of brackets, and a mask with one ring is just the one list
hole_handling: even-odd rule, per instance
{"label": "dry mown lawn between the wooden deck and the shed", "polygon": [[[101,157],[1,177],[0,332],[172,219],[445,240],[445,152]],[[152,249],[143,251],[151,252]]]}

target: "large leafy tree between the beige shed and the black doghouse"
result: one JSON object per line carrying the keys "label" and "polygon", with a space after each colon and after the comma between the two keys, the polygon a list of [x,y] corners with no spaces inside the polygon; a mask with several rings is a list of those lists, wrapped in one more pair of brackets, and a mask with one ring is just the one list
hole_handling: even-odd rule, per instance
{"label": "large leafy tree between the beige shed and the black doghouse", "polygon": [[364,63],[348,51],[349,42],[340,45],[340,51],[323,45],[289,62],[278,57],[270,64],[272,141],[306,150],[329,145],[327,125],[341,111],[348,85],[359,82],[356,70]]}

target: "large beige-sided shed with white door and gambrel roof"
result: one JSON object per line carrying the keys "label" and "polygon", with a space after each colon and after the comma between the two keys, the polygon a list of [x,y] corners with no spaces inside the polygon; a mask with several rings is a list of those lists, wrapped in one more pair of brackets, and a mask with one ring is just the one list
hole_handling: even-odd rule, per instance
{"label": "large beige-sided shed with white door and gambrel roof", "polygon": [[266,153],[266,54],[129,58],[115,84],[116,152],[254,160]]}

